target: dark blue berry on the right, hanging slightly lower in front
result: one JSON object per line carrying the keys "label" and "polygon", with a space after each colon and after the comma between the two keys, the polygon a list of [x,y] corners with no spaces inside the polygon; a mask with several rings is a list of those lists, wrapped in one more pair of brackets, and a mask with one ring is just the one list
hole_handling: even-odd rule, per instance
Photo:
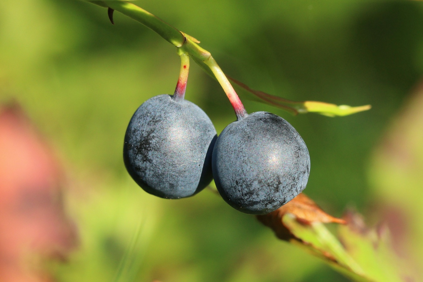
{"label": "dark blue berry on the right, hanging slightly lower in front", "polygon": [[222,198],[246,214],[267,214],[305,188],[310,155],[298,132],[269,112],[254,112],[214,144],[214,181]]}

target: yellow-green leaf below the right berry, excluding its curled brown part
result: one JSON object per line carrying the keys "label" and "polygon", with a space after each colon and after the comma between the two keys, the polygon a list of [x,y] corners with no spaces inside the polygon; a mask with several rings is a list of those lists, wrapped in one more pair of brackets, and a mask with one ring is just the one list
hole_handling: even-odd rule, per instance
{"label": "yellow-green leaf below the right berry, excluding its curled brown part", "polygon": [[291,243],[355,281],[401,282],[411,277],[393,250],[387,228],[378,233],[365,227],[360,215],[350,212],[347,217],[348,224],[339,225],[338,238],[321,222],[299,222],[293,214],[285,214],[282,222],[293,235]]}

